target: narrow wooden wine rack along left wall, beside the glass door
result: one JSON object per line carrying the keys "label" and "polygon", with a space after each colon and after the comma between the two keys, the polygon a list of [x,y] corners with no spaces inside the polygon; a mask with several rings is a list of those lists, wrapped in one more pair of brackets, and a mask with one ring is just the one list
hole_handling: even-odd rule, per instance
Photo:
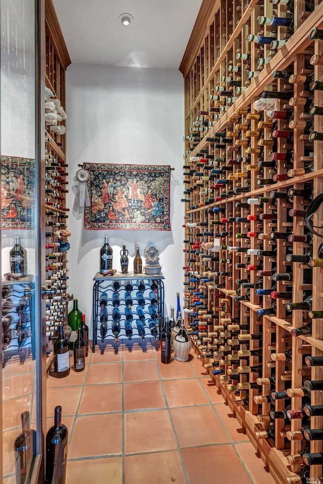
{"label": "narrow wooden wine rack along left wall, beside the glass door", "polygon": [[[71,60],[52,0],[45,2],[45,34],[45,85],[55,95],[50,99],[60,100],[65,109],[65,74]],[[65,120],[58,121],[57,124],[65,125]],[[65,278],[68,277],[68,252],[59,251],[58,231],[60,228],[67,229],[69,212],[66,208],[65,192],[68,188],[66,135],[53,133],[50,125],[46,124],[45,128],[46,284],[48,287],[54,286],[57,289],[56,298],[48,296],[46,299],[47,352],[49,353],[51,339],[57,335],[57,325],[67,322],[68,279]],[[48,190],[50,191],[48,192]],[[47,370],[50,360],[51,358],[47,362]]]}

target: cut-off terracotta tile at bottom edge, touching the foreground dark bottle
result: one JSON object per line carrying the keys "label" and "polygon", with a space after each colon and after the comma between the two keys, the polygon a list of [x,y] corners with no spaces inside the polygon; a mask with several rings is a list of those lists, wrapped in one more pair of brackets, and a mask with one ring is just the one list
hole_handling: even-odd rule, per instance
{"label": "cut-off terracotta tile at bottom edge, touching the foreground dark bottle", "polygon": [[122,458],[86,459],[67,462],[68,484],[122,484]]}

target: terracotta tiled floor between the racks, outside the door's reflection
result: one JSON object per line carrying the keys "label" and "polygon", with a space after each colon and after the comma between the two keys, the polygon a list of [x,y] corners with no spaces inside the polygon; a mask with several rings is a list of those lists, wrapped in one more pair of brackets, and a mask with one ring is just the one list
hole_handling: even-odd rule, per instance
{"label": "terracotta tiled floor between the racks, outside the door's reflection", "polygon": [[89,353],[85,371],[47,379],[47,425],[63,407],[67,484],[274,484],[193,352],[162,365],[139,345]]}

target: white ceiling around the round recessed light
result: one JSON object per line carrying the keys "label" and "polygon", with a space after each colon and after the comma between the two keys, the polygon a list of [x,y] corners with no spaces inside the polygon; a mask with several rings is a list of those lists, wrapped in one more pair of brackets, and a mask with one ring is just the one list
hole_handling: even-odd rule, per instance
{"label": "white ceiling around the round recessed light", "polygon": [[[53,0],[74,64],[178,69],[202,0]],[[134,22],[124,27],[119,16]]]}

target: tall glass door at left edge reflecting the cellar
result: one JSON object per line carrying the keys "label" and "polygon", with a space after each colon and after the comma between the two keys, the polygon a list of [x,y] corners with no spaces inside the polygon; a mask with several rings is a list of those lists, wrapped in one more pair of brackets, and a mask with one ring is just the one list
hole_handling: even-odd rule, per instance
{"label": "tall glass door at left edge reflecting the cellar", "polygon": [[[41,0],[0,0],[2,469],[5,484],[36,482],[45,428],[44,280],[40,200]],[[43,197],[43,198],[42,198]],[[44,264],[43,264],[44,265]],[[2,464],[2,465],[1,465]]]}

